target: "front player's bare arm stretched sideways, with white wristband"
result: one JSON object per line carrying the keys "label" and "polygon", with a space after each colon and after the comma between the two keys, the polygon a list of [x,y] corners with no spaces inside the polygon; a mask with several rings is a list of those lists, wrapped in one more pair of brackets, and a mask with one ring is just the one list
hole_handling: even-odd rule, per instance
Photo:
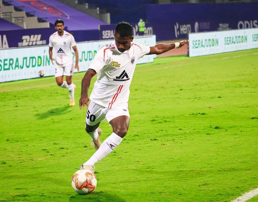
{"label": "front player's bare arm stretched sideways, with white wristband", "polygon": [[189,43],[189,40],[170,43],[170,44],[164,44],[164,43],[156,44],[155,46],[150,47],[150,52],[147,55],[152,55],[152,54],[159,55],[174,48],[181,48],[186,43]]}

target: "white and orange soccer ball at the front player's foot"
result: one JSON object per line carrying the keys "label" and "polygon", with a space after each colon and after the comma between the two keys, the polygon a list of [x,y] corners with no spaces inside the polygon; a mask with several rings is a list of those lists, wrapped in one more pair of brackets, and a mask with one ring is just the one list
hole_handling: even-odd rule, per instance
{"label": "white and orange soccer ball at the front player's foot", "polygon": [[78,170],[72,176],[72,188],[79,194],[91,193],[96,186],[97,178],[90,170]]}

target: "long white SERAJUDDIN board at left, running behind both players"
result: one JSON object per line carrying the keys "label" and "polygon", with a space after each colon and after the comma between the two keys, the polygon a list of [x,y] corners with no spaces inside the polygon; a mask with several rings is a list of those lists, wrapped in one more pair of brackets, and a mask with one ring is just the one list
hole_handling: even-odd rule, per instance
{"label": "long white SERAJUDDIN board at left, running behind both players", "polygon": [[[80,72],[86,71],[96,52],[104,44],[112,41],[77,43]],[[153,46],[156,44],[156,37],[154,35],[135,37],[134,42]],[[74,56],[73,51],[72,53]],[[155,57],[156,55],[146,55],[138,60],[138,64],[153,62]],[[37,78],[41,70],[45,72],[45,76],[53,76],[55,73],[55,65],[51,63],[48,45],[0,50],[0,82]]]}

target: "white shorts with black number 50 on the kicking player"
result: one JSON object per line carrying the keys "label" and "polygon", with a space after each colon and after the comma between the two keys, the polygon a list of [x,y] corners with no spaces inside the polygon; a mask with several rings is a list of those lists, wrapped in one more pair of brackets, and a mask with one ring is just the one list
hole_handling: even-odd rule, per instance
{"label": "white shorts with black number 50 on the kicking player", "polygon": [[128,116],[130,118],[128,103],[123,103],[110,109],[90,102],[86,112],[86,123],[89,126],[94,126],[105,118],[110,122],[118,116]]}

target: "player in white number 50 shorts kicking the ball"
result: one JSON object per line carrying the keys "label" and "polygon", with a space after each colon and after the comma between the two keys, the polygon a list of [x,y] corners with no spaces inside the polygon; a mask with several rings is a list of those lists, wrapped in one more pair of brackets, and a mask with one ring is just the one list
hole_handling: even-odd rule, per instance
{"label": "player in white number 50 shorts kicking the ball", "polygon": [[[187,41],[171,44],[145,46],[133,43],[133,28],[127,22],[119,22],[115,29],[115,41],[104,45],[95,55],[93,62],[82,79],[82,91],[79,100],[80,109],[88,106],[85,130],[91,136],[96,149],[93,156],[79,169],[89,169],[94,173],[94,164],[113,151],[126,135],[130,115],[128,111],[129,86],[131,84],[137,60],[144,55],[161,54],[174,48],[180,48]],[[97,81],[88,97],[92,77],[98,74]],[[90,103],[89,99],[91,99]],[[102,130],[100,122],[110,123],[113,133],[100,142]]]}

